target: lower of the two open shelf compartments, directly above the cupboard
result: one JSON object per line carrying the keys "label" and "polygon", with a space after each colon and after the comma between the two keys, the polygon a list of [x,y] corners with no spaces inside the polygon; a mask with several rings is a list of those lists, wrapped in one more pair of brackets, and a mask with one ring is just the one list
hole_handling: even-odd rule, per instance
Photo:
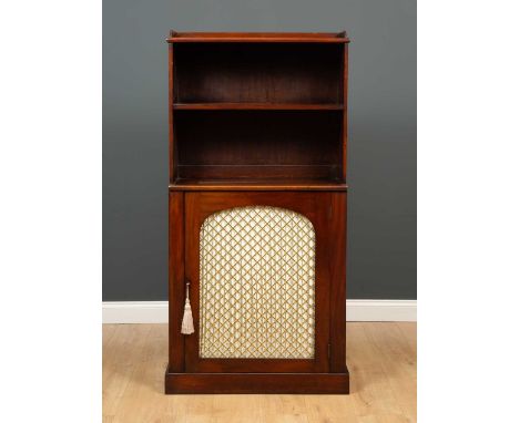
{"label": "lower of the two open shelf compartments, directly above the cupboard", "polygon": [[336,111],[176,111],[177,179],[336,180],[340,127]]}

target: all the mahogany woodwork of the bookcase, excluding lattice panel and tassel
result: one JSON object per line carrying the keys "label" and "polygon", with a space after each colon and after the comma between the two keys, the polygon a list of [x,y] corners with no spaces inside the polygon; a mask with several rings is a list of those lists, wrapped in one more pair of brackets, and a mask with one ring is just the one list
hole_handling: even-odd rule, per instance
{"label": "all the mahogany woodwork of the bookcase, excluding lattice panel and tassel", "polygon": [[[347,393],[347,39],[340,33],[176,33],[170,39],[167,393]],[[199,357],[200,228],[269,205],[316,233],[313,360]],[[181,336],[184,281],[195,333]]]}

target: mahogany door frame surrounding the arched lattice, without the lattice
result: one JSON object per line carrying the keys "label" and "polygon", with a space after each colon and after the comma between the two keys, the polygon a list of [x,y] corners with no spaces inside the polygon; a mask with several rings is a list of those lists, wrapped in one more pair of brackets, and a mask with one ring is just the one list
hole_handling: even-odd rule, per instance
{"label": "mahogany door frame surrounding the arched lattice, without the lattice", "polygon": [[[233,207],[246,207],[266,204],[273,207],[291,209],[312,221],[316,236],[315,264],[315,359],[314,360],[255,360],[233,359],[215,360],[199,358],[199,337],[186,337],[186,371],[190,372],[327,372],[332,285],[345,285],[345,278],[332,279],[330,250],[335,249],[336,224],[329,214],[336,215],[334,197],[344,197],[334,193],[187,193],[185,197],[185,228],[191,234],[186,238],[185,276],[191,281],[194,292],[200,292],[200,228],[210,215]],[[339,203],[337,203],[339,204]],[[333,206],[332,206],[333,207]],[[338,216],[340,218],[342,216]],[[345,277],[345,276],[344,276]],[[336,290],[336,288],[334,288]],[[199,297],[191,300],[193,316],[200,316]],[[343,314],[344,316],[344,314]],[[344,319],[343,319],[344,320]],[[199,333],[195,319],[195,333]],[[345,369],[343,369],[345,371]]]}

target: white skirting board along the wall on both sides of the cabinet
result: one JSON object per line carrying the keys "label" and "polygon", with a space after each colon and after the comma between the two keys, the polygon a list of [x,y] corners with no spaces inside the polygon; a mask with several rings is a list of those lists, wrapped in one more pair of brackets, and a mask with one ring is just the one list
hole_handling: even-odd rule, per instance
{"label": "white skirting board along the wall on both sides of the cabinet", "polygon": [[[347,300],[347,321],[416,321],[416,300]],[[103,323],[167,323],[167,301],[103,301]]]}

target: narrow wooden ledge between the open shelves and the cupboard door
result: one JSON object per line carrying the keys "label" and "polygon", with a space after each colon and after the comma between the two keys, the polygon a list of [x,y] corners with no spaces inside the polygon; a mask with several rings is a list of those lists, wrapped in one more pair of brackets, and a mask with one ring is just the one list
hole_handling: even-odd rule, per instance
{"label": "narrow wooden ledge between the open shelves and the cupboard door", "polygon": [[170,190],[347,190],[344,182],[328,179],[176,179]]}

